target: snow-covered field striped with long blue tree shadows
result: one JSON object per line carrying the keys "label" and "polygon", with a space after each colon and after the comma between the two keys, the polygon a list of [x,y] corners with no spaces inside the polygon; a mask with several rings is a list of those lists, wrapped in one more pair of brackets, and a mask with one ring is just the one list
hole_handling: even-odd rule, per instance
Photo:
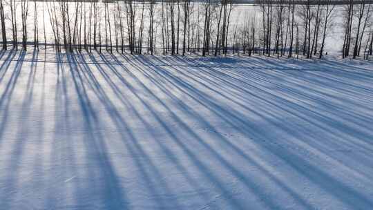
{"label": "snow-covered field striped with long blue tree shadows", "polygon": [[371,61],[0,57],[0,209],[373,207]]}

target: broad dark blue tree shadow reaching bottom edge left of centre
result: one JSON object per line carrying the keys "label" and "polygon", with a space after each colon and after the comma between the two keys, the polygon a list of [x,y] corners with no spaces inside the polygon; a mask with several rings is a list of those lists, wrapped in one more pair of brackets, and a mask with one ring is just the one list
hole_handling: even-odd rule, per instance
{"label": "broad dark blue tree shadow reaching bottom edge left of centre", "polygon": [[[107,146],[104,135],[100,132],[102,123],[95,111],[95,106],[90,101],[87,90],[89,86],[86,84],[84,75],[79,69],[75,56],[73,54],[66,54],[68,59],[68,71],[70,77],[73,80],[73,86],[75,93],[77,93],[79,108],[82,111],[83,124],[84,124],[84,145],[86,146],[87,158],[95,160],[95,164],[98,164],[98,170],[96,173],[92,173],[93,177],[90,178],[90,186],[99,186],[95,193],[99,193],[104,196],[100,200],[104,204],[104,208],[108,209],[128,209],[126,200],[126,194],[121,188],[118,180],[118,175],[115,173],[114,166],[111,162],[110,157],[107,153]],[[89,169],[88,170],[94,170]],[[99,177],[95,174],[99,173]],[[104,183],[100,183],[100,182]],[[104,185],[100,187],[100,185]],[[79,196],[84,198],[84,193],[78,193]],[[77,198],[79,201],[79,198]]]}

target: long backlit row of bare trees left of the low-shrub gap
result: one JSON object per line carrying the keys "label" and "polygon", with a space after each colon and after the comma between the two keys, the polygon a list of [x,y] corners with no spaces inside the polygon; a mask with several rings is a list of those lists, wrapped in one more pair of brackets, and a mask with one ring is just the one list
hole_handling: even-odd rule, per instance
{"label": "long backlit row of bare trees left of the low-shrub gap", "polygon": [[[8,5],[5,5],[8,3]],[[30,5],[34,5],[30,12]],[[20,4],[20,5],[19,5]],[[9,14],[4,14],[4,8]],[[163,54],[171,55],[195,53],[209,55],[211,50],[227,53],[229,19],[233,4],[230,0],[221,3],[211,0],[194,3],[191,0],[178,1],[29,1],[0,0],[0,18],[3,49],[19,44],[23,50],[30,44],[28,35],[34,32],[33,45],[39,49],[40,44],[52,44],[57,51],[62,48],[73,52],[82,49],[91,51],[102,49],[131,54],[147,53],[153,55],[157,48]],[[19,9],[21,11],[19,11]],[[42,14],[39,14],[41,10]],[[216,10],[219,10],[218,36],[212,39],[215,27]],[[38,12],[39,11],[39,12]],[[33,23],[28,19],[33,15]],[[19,19],[21,16],[21,19]],[[40,19],[44,43],[39,39]],[[204,20],[204,25],[201,24]],[[6,24],[10,21],[11,24]],[[20,24],[21,23],[21,24]],[[9,26],[10,25],[10,26]],[[19,25],[22,31],[19,43]],[[48,34],[50,30],[50,34]],[[9,38],[9,31],[12,38]],[[48,40],[52,38],[52,41]],[[12,40],[12,41],[10,41]],[[219,44],[212,45],[212,41]],[[222,41],[220,41],[222,40]],[[215,46],[215,48],[212,48]],[[217,53],[216,53],[217,55]]]}

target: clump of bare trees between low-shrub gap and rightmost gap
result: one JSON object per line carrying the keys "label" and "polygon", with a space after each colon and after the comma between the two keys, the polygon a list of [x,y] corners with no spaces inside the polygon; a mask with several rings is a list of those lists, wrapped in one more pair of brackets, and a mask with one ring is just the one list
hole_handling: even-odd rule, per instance
{"label": "clump of bare trees between low-shrub gap and rightmost gap", "polygon": [[[293,3],[266,1],[262,4],[262,53],[278,57],[322,57],[327,33],[332,29],[332,15],[336,6],[327,1],[311,1],[297,6]],[[287,1],[289,2],[289,1]],[[254,30],[254,29],[252,29]],[[253,40],[255,41],[255,40]],[[272,46],[272,44],[274,46]]]}

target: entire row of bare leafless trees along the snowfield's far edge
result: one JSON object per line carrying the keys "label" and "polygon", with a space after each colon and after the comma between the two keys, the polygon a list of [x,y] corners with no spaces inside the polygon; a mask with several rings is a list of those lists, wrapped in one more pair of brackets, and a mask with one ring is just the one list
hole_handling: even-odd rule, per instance
{"label": "entire row of bare leafless trees along the snowfield's far edge", "polygon": [[338,34],[343,57],[368,59],[373,8],[370,1],[349,2],[335,6],[332,0],[305,0],[301,5],[296,0],[261,1],[256,11],[232,22],[232,0],[0,0],[1,39],[4,50],[49,44],[70,52],[321,58],[327,37],[334,28],[343,28]]}

